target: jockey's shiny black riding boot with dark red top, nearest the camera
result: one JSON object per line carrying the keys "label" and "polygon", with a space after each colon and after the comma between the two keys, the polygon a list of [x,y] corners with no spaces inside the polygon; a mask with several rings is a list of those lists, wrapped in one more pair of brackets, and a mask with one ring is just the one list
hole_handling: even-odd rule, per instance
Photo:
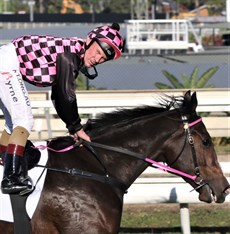
{"label": "jockey's shiny black riding boot with dark red top, nearest the camera", "polygon": [[[1,190],[4,194],[14,194],[31,190],[32,186],[28,184],[29,177],[24,163],[25,147],[15,144],[9,144],[4,158],[4,174],[1,183]],[[23,170],[26,170],[23,172]]]}

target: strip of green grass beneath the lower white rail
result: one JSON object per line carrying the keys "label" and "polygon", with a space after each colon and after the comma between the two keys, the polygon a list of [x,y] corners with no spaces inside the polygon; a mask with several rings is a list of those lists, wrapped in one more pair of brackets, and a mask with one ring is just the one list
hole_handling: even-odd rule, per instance
{"label": "strip of green grass beneath the lower white rail", "polygon": [[[192,234],[230,234],[229,204],[190,204]],[[180,231],[179,204],[126,205],[122,233],[174,233]],[[137,232],[135,228],[139,228]],[[122,231],[123,230],[123,231]]]}

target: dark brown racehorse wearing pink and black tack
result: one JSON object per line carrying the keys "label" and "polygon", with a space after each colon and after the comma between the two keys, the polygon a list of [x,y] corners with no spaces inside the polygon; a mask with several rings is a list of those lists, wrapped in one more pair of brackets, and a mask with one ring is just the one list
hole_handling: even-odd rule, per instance
{"label": "dark brown racehorse wearing pink and black tack", "polygon": [[[230,185],[196,113],[196,92],[165,95],[159,104],[92,119],[85,129],[91,142],[80,141],[80,147],[69,136],[49,142],[47,175],[31,233],[119,233],[124,194],[151,160],[181,172],[200,201],[225,201]],[[13,224],[1,221],[0,229],[12,234]]]}

